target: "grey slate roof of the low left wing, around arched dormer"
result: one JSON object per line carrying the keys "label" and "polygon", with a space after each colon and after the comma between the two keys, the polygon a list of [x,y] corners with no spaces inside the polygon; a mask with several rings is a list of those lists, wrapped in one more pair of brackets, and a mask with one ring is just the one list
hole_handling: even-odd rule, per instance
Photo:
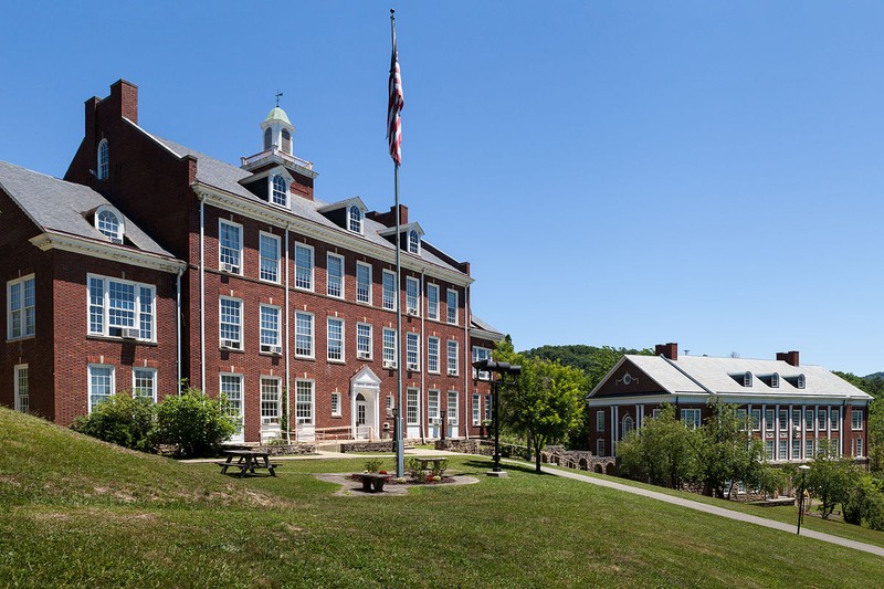
{"label": "grey slate roof of the low left wing, around arched dormer", "polygon": [[[2,189],[30,217],[38,227],[78,238],[112,243],[95,229],[92,214],[102,204],[110,204],[102,194],[83,185],[66,182],[7,161],[0,161],[0,189]],[[115,208],[115,210],[117,210]],[[129,245],[144,252],[173,257],[150,236],[123,215],[125,239]]]}

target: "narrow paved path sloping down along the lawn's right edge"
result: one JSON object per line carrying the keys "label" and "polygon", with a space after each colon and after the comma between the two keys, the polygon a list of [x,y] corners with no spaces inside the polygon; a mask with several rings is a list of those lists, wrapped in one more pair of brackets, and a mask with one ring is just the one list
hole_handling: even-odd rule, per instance
{"label": "narrow paved path sloping down along the lawn's right edge", "polygon": [[[509,462],[512,464],[519,464],[524,465],[524,462],[516,462],[505,460],[504,462]],[[733,512],[730,509],[725,509],[723,507],[716,507],[715,505],[708,505],[706,503],[699,503],[697,501],[686,499],[683,497],[676,497],[673,495],[666,495],[664,493],[659,493],[656,491],[651,491],[646,488],[640,488],[634,486],[624,485],[621,483],[615,483],[613,481],[608,481],[606,478],[597,478],[593,476],[587,476],[585,474],[579,474],[576,472],[570,471],[561,471],[558,469],[549,469],[547,466],[540,467],[545,473],[554,474],[556,476],[564,476],[565,478],[573,478],[575,481],[581,481],[583,483],[590,483],[593,485],[599,486],[607,486],[610,488],[615,488],[618,491],[623,491],[625,493],[632,493],[634,495],[642,495],[644,497],[649,497],[656,501],[663,501],[666,503],[672,503],[673,505],[680,505],[682,507],[687,507],[688,509],[696,509],[698,512],[706,512],[708,514],[719,515],[722,517],[728,517],[730,519],[737,519],[738,522],[748,522],[750,524],[756,524],[758,526],[765,526],[774,529],[781,529],[782,532],[789,532],[791,534],[796,533],[796,527],[790,524],[783,524],[781,522],[775,522],[774,519],[767,519],[764,517],[758,517],[756,515],[744,514],[740,512]],[[797,517],[797,514],[796,514]],[[822,532],[815,532],[812,529],[804,528],[801,530],[802,536],[807,536],[808,538],[814,538],[822,541],[829,541],[832,544],[838,544],[840,546],[846,546],[848,548],[853,548],[854,550],[862,550],[864,553],[870,553],[877,556],[884,556],[884,547],[874,546],[872,544],[865,544],[862,541],[851,540],[848,538],[842,538],[840,536],[832,536],[831,534],[824,534]]]}

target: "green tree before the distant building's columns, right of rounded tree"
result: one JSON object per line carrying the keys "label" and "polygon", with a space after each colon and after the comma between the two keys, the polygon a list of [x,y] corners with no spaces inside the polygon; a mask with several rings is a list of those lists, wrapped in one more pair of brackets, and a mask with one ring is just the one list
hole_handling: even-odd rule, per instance
{"label": "green tree before the distant building's columns, right of rounded tree", "polygon": [[751,438],[749,420],[738,417],[737,407],[717,397],[709,399],[712,416],[691,439],[696,461],[696,476],[704,495],[725,496],[737,481],[747,484],[760,480],[764,445]]}

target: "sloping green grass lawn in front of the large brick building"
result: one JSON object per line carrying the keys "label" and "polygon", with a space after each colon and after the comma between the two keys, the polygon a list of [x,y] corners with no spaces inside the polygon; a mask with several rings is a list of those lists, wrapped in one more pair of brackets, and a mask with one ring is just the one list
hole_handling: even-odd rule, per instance
{"label": "sloping green grass lawn in front of the large brick building", "polygon": [[[392,467],[386,459],[382,467]],[[878,557],[464,456],[481,478],[340,497],[286,461],[221,476],[0,411],[0,585],[869,587]]]}

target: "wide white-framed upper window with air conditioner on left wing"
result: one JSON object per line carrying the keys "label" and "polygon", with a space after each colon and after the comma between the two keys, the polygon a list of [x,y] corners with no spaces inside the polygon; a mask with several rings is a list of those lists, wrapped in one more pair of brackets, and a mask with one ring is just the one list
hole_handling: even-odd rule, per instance
{"label": "wide white-framed upper window with air conditioner on left wing", "polygon": [[91,335],[154,341],[156,288],[104,276],[87,277]]}

